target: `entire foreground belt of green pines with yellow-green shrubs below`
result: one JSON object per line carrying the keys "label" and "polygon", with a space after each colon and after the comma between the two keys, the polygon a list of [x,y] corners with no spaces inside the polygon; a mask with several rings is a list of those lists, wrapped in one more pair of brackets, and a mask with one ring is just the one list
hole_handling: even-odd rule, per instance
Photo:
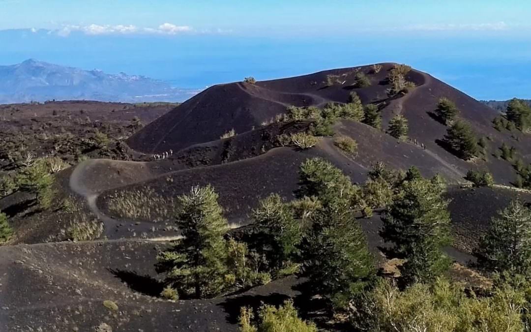
{"label": "entire foreground belt of green pines with yellow-green shrubs below", "polygon": [[[355,185],[321,158],[307,159],[297,198],[278,194],[253,212],[252,231],[239,241],[227,235],[227,220],[211,188],[196,187],[179,198],[176,222],[183,239],[159,253],[169,299],[212,297],[297,273],[307,289],[348,317],[353,330],[521,331],[531,308],[531,211],[512,202],[482,237],[479,266],[497,273],[488,292],[465,292],[446,276],[451,245],[446,184],[376,164]],[[364,208],[384,208],[380,235],[388,258],[403,261],[399,277],[381,277],[359,224]],[[362,212],[360,214],[360,212]],[[529,291],[529,292],[528,292]],[[275,308],[242,308],[242,331],[307,330],[292,302]],[[422,314],[419,314],[422,312]],[[274,328],[273,328],[274,327]],[[503,327],[503,328],[502,328]]]}

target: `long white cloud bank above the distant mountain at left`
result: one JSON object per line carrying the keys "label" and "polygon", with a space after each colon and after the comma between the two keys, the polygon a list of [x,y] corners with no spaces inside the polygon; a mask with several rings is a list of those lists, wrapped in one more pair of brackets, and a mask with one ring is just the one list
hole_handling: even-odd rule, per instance
{"label": "long white cloud bank above the distant mountain at left", "polygon": [[160,24],[157,28],[149,27],[136,27],[135,25],[63,25],[61,28],[56,29],[55,32],[61,37],[67,37],[72,32],[82,32],[85,35],[98,36],[98,35],[131,35],[133,33],[138,34],[158,34],[158,35],[177,35],[177,33],[192,32],[192,27],[188,25],[176,25],[172,23]]}

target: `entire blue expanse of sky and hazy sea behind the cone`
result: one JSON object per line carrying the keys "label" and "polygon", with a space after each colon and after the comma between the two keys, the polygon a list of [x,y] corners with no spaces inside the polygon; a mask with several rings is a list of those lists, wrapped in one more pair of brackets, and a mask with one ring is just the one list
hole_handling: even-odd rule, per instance
{"label": "entire blue expanse of sky and hazy sea behind the cone", "polygon": [[404,62],[477,99],[531,98],[531,2],[0,0],[0,65],[27,58],[203,88]]}

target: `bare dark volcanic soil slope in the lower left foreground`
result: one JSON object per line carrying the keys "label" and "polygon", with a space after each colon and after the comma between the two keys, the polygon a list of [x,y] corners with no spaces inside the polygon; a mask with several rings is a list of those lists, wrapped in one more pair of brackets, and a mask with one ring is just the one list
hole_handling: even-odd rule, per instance
{"label": "bare dark volcanic soil slope in the lower left foreground", "polygon": [[[104,241],[0,247],[2,331],[237,331],[239,307],[297,295],[293,277],[227,297],[170,302],[153,264],[165,244]],[[15,286],[16,285],[16,286]],[[104,307],[114,301],[118,311]]]}

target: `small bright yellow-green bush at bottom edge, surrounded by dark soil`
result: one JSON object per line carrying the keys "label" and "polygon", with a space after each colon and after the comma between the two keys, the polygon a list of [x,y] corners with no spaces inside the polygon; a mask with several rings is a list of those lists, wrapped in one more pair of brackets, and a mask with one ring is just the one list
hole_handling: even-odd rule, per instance
{"label": "small bright yellow-green bush at bottom edge, surrounded by dark soil", "polygon": [[252,308],[241,308],[239,314],[241,332],[317,332],[317,327],[298,317],[293,301],[286,301],[278,309],[262,304],[258,321],[254,321]]}

